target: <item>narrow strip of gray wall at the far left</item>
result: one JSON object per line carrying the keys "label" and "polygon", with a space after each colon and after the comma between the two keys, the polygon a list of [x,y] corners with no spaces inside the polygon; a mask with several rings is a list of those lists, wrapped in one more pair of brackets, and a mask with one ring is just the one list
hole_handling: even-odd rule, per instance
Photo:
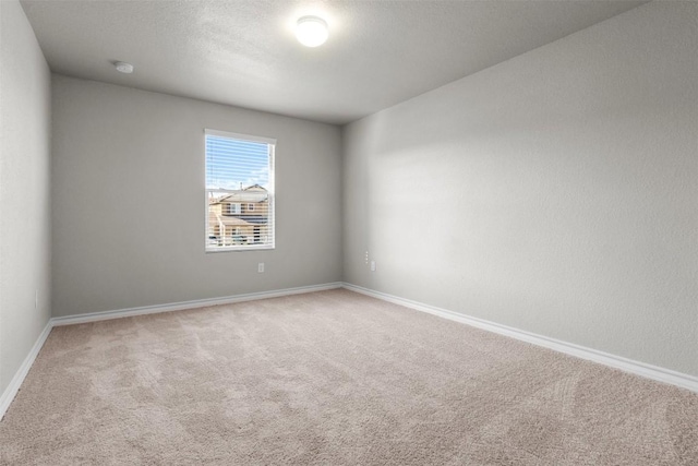
{"label": "narrow strip of gray wall at the far left", "polygon": [[51,101],[48,65],[16,1],[0,2],[0,49],[1,394],[51,312]]}

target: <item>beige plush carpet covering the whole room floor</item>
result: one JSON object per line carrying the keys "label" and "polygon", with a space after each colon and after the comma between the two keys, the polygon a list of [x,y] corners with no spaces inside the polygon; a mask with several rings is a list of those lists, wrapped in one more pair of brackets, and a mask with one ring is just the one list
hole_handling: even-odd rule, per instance
{"label": "beige plush carpet covering the whole room floor", "polygon": [[347,290],[57,327],[12,465],[698,465],[698,394]]}

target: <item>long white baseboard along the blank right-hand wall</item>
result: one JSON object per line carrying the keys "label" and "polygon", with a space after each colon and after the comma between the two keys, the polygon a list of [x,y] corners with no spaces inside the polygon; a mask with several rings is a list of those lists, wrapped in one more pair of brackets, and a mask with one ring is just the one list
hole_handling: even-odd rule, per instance
{"label": "long white baseboard along the blank right-hand wall", "polygon": [[373,298],[382,299],[384,301],[393,302],[395,304],[400,304],[406,308],[414,309],[417,311],[428,312],[430,314],[438,315],[444,319],[468,324],[512,338],[520,339],[522,342],[531,343],[537,346],[542,346],[544,348],[575,356],[577,358],[587,359],[647,379],[652,379],[659,382],[681,386],[682,389],[687,389],[693,392],[698,392],[698,378],[694,375],[688,375],[682,372],[673,371],[671,369],[664,369],[645,362],[635,361],[622,356],[615,356],[609,353],[599,351],[597,349],[575,345],[574,343],[567,343],[555,338],[550,338],[547,336],[525,332],[518,328],[501,325],[495,322],[485,321],[483,319],[460,314],[447,309],[436,308],[434,306],[424,304],[422,302],[387,295],[385,292],[374,291],[372,289],[363,288],[348,283],[344,284],[344,288],[351,291],[360,292],[362,295],[371,296]]}

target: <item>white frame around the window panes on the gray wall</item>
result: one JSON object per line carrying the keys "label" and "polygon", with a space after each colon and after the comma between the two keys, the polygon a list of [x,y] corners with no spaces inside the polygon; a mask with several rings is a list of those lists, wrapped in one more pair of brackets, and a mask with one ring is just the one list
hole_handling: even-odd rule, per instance
{"label": "white frame around the window panes on the gray wall", "polygon": [[[229,189],[208,189],[206,186],[206,177],[207,177],[207,170],[206,170],[206,163],[207,163],[207,157],[206,157],[206,136],[207,135],[213,135],[213,136],[219,136],[219,138],[228,138],[228,139],[234,139],[234,140],[239,140],[239,141],[249,141],[249,142],[257,142],[257,143],[264,143],[264,144],[268,144],[269,146],[269,186],[268,189],[266,190],[267,192],[267,199],[268,199],[268,207],[267,207],[267,217],[268,217],[268,224],[270,225],[270,230],[272,230],[272,241],[268,243],[255,243],[255,242],[250,242],[250,243],[245,243],[245,244],[240,244],[240,246],[226,246],[226,247],[212,247],[209,246],[209,241],[208,241],[208,237],[209,237],[209,231],[208,231],[208,198],[209,198],[209,193],[210,192],[217,192],[217,193],[225,193],[225,192],[229,192],[229,193],[236,193],[239,190],[229,190]],[[241,134],[241,133],[232,133],[232,132],[228,132],[228,131],[219,131],[219,130],[210,130],[210,129],[205,129],[204,130],[204,250],[206,253],[213,252],[240,252],[240,251],[258,251],[258,250],[269,250],[269,249],[276,249],[276,215],[275,215],[275,211],[276,211],[276,196],[275,196],[275,156],[276,156],[276,139],[273,138],[264,138],[264,136],[256,136],[256,135],[251,135],[251,134]],[[242,204],[240,205],[240,210],[242,211]],[[236,228],[236,231],[239,231],[239,227]]]}

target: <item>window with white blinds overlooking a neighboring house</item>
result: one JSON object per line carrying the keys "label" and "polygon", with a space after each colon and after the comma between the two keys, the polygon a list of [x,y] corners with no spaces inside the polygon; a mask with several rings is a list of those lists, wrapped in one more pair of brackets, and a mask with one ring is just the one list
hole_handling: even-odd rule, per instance
{"label": "window with white blinds overlooking a neighboring house", "polygon": [[214,130],[205,139],[206,251],[274,249],[276,140]]}

